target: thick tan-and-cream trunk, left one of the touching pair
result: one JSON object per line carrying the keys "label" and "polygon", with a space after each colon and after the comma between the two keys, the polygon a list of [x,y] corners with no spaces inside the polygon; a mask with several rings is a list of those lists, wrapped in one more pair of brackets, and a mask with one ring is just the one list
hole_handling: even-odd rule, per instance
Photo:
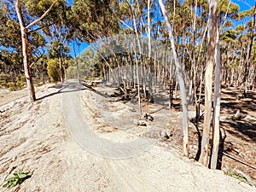
{"label": "thick tan-and-cream trunk, left one of the touching pair", "polygon": [[204,166],[208,166],[208,143],[212,119],[212,70],[215,63],[214,53],[217,38],[217,3],[218,0],[210,0],[209,6],[207,67],[205,73],[205,119],[201,143],[201,162]]}

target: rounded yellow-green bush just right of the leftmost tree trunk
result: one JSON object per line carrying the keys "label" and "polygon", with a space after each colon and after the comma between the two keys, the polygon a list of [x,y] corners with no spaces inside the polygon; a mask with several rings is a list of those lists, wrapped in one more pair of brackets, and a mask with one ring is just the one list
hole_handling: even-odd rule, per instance
{"label": "rounded yellow-green bush just right of the leftmost tree trunk", "polygon": [[55,83],[60,80],[60,69],[58,59],[51,59],[47,62],[49,78]]}

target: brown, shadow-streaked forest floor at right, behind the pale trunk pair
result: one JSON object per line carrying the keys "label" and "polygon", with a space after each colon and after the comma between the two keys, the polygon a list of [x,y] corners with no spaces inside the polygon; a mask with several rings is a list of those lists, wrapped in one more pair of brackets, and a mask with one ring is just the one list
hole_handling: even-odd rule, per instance
{"label": "brown, shadow-streaked forest floor at right, behind the pale trunk pair", "polygon": [[[249,90],[242,97],[242,90],[235,87],[223,87],[221,93],[220,129],[221,143],[218,169],[224,172],[238,170],[256,182],[256,91]],[[237,110],[239,118],[234,119]],[[190,124],[190,158],[198,160],[199,132],[202,135],[203,119],[198,130]],[[199,132],[198,132],[199,131]],[[210,139],[210,143],[211,143]],[[182,148],[180,146],[179,148]]]}

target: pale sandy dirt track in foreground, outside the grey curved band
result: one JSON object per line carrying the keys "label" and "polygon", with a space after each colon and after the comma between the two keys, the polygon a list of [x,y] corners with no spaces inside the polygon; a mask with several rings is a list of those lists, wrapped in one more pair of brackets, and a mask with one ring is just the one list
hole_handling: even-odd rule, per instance
{"label": "pale sandy dirt track in foreground, outside the grey curved band", "polygon": [[33,175],[13,191],[256,191],[158,143],[123,160],[91,154],[67,129],[61,91],[45,85],[37,93],[45,97],[37,102],[22,97],[1,103],[0,191],[9,191],[4,179],[18,168]]}

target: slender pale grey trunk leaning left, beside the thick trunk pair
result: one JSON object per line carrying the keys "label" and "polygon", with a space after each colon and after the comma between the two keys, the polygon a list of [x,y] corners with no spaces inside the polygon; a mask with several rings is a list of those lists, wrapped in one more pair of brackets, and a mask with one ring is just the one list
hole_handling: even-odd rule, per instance
{"label": "slender pale grey trunk leaning left, beside the thick trunk pair", "polygon": [[180,94],[181,94],[182,108],[183,108],[183,153],[186,156],[189,156],[188,103],[187,103],[187,94],[185,90],[185,82],[183,79],[183,68],[180,65],[180,62],[177,57],[175,42],[172,34],[172,26],[166,14],[165,4],[163,3],[162,0],[159,0],[159,3],[160,3],[160,8],[162,10],[162,14],[164,15],[164,18],[166,20],[166,26],[169,32],[169,40],[172,45],[172,54],[175,61],[177,79],[178,79],[180,92],[181,92]]}

